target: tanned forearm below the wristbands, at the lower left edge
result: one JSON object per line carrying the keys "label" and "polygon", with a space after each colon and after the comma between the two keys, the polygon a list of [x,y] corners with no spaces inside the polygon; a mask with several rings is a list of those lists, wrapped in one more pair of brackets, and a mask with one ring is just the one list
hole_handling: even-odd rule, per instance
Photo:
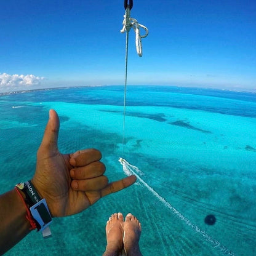
{"label": "tanned forearm below the wristbands, at the lower left edge", "polygon": [[0,196],[0,255],[15,246],[30,233],[26,207],[17,191]]}

